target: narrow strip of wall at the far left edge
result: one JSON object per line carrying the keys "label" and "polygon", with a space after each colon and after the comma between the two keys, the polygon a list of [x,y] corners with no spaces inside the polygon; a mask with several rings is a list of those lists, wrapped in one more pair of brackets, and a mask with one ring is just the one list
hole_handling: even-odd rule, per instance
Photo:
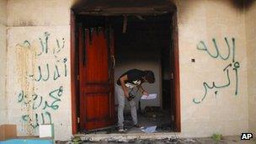
{"label": "narrow strip of wall at the far left edge", "polygon": [[7,0],[0,0],[0,125],[7,122],[6,105],[6,30],[7,30]]}

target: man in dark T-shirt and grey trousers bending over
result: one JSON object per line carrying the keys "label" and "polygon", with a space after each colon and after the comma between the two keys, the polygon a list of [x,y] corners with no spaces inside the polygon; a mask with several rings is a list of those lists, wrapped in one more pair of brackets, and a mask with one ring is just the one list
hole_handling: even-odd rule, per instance
{"label": "man in dark T-shirt and grey trousers bending over", "polygon": [[155,83],[155,76],[152,71],[141,71],[138,69],[131,69],[120,76],[115,84],[115,94],[118,98],[118,131],[123,132],[124,129],[124,108],[125,98],[129,101],[131,106],[131,117],[133,124],[138,127],[136,103],[133,99],[131,91],[133,88],[138,88],[141,93],[148,95],[147,91],[141,87],[142,83]]}

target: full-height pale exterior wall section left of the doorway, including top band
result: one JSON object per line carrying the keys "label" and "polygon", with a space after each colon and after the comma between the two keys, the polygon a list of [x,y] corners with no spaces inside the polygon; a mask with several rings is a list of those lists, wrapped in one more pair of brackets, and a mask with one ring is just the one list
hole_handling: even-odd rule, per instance
{"label": "full-height pale exterior wall section left of the doorway, including top band", "polygon": [[70,0],[8,1],[8,122],[19,136],[54,123],[72,136]]}

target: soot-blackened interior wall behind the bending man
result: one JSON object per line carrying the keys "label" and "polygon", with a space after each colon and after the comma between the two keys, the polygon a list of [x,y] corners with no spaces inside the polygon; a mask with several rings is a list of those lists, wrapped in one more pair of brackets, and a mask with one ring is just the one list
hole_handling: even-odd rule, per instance
{"label": "soot-blackened interior wall behind the bending man", "polygon": [[[137,68],[152,70],[155,83],[143,83],[148,93],[157,93],[157,99],[141,100],[141,109],[146,106],[163,106],[162,103],[162,49],[169,48],[170,24],[168,15],[145,16],[143,19],[128,17],[126,32],[123,33],[122,19],[115,20],[115,81],[127,70]],[[136,104],[141,93],[137,93]],[[117,103],[117,101],[116,101]],[[129,105],[129,104],[128,104]],[[129,108],[126,107],[126,108]]]}

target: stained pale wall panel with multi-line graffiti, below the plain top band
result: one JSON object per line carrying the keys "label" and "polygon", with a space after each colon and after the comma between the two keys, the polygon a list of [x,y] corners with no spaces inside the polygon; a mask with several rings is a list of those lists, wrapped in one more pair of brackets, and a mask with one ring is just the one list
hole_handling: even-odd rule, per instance
{"label": "stained pale wall panel with multi-line graffiti, below the plain top band", "polygon": [[8,120],[19,135],[38,135],[44,121],[56,139],[71,135],[69,40],[68,25],[8,29]]}

